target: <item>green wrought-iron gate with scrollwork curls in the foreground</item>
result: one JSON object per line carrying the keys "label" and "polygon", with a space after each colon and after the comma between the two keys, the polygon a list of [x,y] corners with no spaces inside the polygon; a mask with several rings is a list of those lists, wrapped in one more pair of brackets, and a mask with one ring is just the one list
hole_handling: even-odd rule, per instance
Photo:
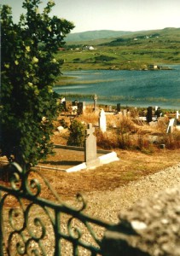
{"label": "green wrought-iron gate with scrollwork curls in the foreground", "polygon": [[[8,170],[9,184],[0,184],[0,255],[102,255],[103,232],[113,225],[85,214],[82,195],[80,207],[69,207],[37,170],[17,163]],[[47,188],[55,200],[41,196]]]}

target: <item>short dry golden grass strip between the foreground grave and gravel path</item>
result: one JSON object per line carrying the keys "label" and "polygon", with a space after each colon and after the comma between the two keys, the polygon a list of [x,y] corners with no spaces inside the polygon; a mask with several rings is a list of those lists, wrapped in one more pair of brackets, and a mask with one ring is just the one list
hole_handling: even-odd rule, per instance
{"label": "short dry golden grass strip between the foreground grave and gravel path", "polygon": [[[65,200],[77,195],[78,192],[113,190],[133,180],[176,165],[180,156],[179,149],[157,149],[154,154],[122,149],[114,151],[118,154],[119,161],[97,167],[95,170],[72,173],[49,170],[42,170],[42,172],[61,198]],[[71,157],[74,159],[74,152],[68,151],[67,154],[69,159]],[[53,159],[55,160],[55,157]]]}

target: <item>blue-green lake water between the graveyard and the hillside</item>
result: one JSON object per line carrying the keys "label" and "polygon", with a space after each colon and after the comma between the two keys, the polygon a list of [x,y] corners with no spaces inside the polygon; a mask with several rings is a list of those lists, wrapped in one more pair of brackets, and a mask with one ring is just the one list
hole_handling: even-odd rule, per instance
{"label": "blue-green lake water between the graveyard and the hillside", "polygon": [[[96,94],[97,104],[180,109],[180,65],[168,67],[172,70],[64,72],[74,78],[73,84],[55,86],[55,91],[71,101],[93,103],[92,95]],[[68,99],[69,94],[76,96]]]}

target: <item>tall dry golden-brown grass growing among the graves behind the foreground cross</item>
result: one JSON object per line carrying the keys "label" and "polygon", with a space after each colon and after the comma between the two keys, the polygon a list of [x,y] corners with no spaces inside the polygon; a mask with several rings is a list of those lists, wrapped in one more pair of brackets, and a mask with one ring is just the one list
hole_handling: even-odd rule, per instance
{"label": "tall dry golden-brown grass growing among the graves behind the foreground cross", "polygon": [[[134,112],[133,112],[134,111]],[[92,111],[92,107],[88,107],[84,114],[74,116],[79,122],[85,124],[91,123],[98,126],[99,114]],[[170,116],[171,118],[171,116]],[[61,119],[70,125],[69,117],[60,117],[56,122],[56,127],[60,125]],[[180,148],[180,132],[166,134],[165,130],[169,121],[169,117],[165,116],[152,125],[137,119],[137,110],[132,109],[132,114],[123,116],[119,114],[107,115],[107,132],[103,133],[96,129],[97,146],[100,148],[123,148],[137,149],[142,152],[152,153],[155,148],[159,148],[160,144],[165,144],[166,148]],[[68,135],[67,135],[68,137]],[[57,139],[57,137],[55,138]],[[55,139],[53,142],[55,143]]]}

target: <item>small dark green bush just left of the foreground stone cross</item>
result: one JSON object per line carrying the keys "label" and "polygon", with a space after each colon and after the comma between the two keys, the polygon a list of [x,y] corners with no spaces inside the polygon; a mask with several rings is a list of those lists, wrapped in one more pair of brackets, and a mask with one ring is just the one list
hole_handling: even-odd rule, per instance
{"label": "small dark green bush just left of the foreground stone cross", "polygon": [[67,141],[69,146],[83,147],[85,140],[85,125],[78,120],[73,120],[69,127],[70,135]]}

